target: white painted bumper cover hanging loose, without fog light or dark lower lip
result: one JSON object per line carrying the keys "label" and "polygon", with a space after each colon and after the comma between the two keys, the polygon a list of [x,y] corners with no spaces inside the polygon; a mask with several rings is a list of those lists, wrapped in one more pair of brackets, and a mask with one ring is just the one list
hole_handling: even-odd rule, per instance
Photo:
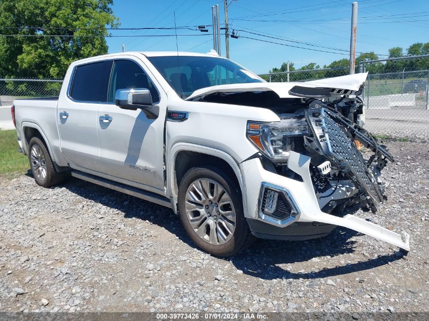
{"label": "white painted bumper cover hanging loose, without fog light or dark lower lip", "polygon": [[[404,232],[403,235],[400,235],[352,215],[346,215],[341,218],[322,212],[313,189],[309,169],[310,157],[290,152],[287,166],[290,170],[299,174],[302,177],[303,182],[292,180],[288,177],[266,170],[263,168],[258,158],[250,159],[240,164],[240,170],[245,183],[245,193],[243,194],[245,195],[244,205],[246,208],[245,216],[247,219],[258,220],[279,228],[290,226],[295,222],[319,222],[334,226],[343,226],[398,246],[406,251],[410,251],[410,236],[408,233]],[[260,204],[260,190],[263,184],[277,186],[279,189],[287,191],[288,195],[297,207],[297,213],[293,220],[288,220],[287,224],[282,224],[282,222],[266,220],[262,215],[260,215],[258,204]],[[296,226],[296,228],[298,229],[300,227]],[[257,230],[252,230],[252,232],[256,236],[258,233],[267,234],[263,231]]]}

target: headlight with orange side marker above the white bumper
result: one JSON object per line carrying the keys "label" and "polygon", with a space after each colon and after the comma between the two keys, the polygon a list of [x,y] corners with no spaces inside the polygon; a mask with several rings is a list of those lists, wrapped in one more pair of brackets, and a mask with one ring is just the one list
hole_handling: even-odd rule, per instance
{"label": "headlight with orange side marker above the white bumper", "polygon": [[289,157],[291,138],[308,133],[304,118],[291,117],[279,122],[247,122],[247,138],[273,161]]}

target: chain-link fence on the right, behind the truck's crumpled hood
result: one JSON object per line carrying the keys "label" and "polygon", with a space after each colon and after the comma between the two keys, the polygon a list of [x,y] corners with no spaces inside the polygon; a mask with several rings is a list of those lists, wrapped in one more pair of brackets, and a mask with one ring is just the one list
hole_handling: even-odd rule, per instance
{"label": "chain-link fence on the right, behind the truck's crumpled hood", "polygon": [[[365,127],[380,137],[429,138],[429,55],[371,60],[364,93]],[[259,75],[268,82],[302,82],[345,76],[349,68],[294,70]]]}

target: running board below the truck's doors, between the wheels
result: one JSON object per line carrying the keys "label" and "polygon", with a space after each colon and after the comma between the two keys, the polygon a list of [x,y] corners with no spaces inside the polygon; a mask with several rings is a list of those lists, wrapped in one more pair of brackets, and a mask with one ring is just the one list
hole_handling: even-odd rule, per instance
{"label": "running board below the truck's doors, between the wheels", "polygon": [[93,183],[93,184],[97,184],[97,185],[101,185],[107,188],[110,188],[112,190],[118,191],[118,192],[122,192],[124,194],[128,194],[131,196],[135,196],[141,199],[144,199],[146,201],[152,202],[152,203],[156,203],[162,206],[166,206],[168,208],[172,208],[171,206],[171,202],[170,199],[168,199],[167,197],[163,197],[161,195],[152,193],[152,192],[148,192],[148,191],[144,191],[132,186],[128,186],[125,184],[121,184],[118,182],[114,182],[108,179],[104,179],[102,177],[98,177],[95,175],[91,175],[88,173],[84,173],[81,171],[77,171],[77,170],[73,170],[71,172],[72,176]]}

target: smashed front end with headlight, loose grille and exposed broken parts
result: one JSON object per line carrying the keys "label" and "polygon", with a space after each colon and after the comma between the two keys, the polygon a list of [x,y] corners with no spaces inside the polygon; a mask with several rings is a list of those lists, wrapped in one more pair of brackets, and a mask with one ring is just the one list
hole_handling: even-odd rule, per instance
{"label": "smashed front end with headlight, loose grille and exposed broken parts", "polygon": [[[280,122],[249,122],[248,138],[278,174],[294,180],[302,177],[288,167],[290,153],[308,156],[314,193],[323,212],[339,217],[359,208],[376,212],[385,199],[381,170],[393,158],[354,122],[362,110],[361,101],[312,98],[306,103],[308,108],[280,114]],[[365,158],[356,142],[366,150]]]}

